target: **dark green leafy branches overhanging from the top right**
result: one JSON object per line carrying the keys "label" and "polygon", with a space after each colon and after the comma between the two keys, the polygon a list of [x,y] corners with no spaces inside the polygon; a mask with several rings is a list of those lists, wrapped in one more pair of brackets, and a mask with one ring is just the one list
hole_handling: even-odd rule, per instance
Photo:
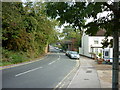
{"label": "dark green leafy branches overhanging from the top right", "polygon": [[[62,7],[60,7],[62,6]],[[86,27],[86,33],[90,35],[96,34],[100,28],[106,30],[106,36],[111,35],[114,31],[113,22],[115,21],[114,15],[119,19],[118,10],[114,10],[113,4],[108,4],[106,2],[50,2],[47,5],[47,13],[52,18],[56,18],[61,21],[61,23],[70,23],[75,28],[78,27],[80,30],[82,27]],[[52,11],[52,12],[51,12]],[[111,11],[106,17],[98,18],[98,13],[105,11]],[[93,18],[93,21],[85,25],[86,18]],[[120,28],[119,21],[116,21],[117,29]]]}

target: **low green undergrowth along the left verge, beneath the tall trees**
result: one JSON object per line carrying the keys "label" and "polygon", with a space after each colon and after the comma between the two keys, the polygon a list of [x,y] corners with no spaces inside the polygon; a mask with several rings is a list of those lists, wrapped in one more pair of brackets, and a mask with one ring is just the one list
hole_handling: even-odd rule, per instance
{"label": "low green undergrowth along the left verge, beneath the tall trees", "polygon": [[[31,59],[34,59],[39,55],[42,55],[42,52],[43,52],[42,50],[40,52],[37,49],[34,52],[33,51],[23,52],[23,51],[12,51],[2,48],[2,60],[0,61],[0,66],[30,61]],[[28,57],[29,55],[30,57]]]}

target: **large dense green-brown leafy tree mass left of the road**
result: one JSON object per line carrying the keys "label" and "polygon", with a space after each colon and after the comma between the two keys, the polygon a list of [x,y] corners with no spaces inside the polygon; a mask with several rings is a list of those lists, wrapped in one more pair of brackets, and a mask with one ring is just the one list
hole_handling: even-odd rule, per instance
{"label": "large dense green-brown leafy tree mass left of the road", "polygon": [[46,45],[57,39],[55,20],[49,19],[44,10],[41,2],[3,2],[3,47],[27,52],[29,57],[44,53]]}

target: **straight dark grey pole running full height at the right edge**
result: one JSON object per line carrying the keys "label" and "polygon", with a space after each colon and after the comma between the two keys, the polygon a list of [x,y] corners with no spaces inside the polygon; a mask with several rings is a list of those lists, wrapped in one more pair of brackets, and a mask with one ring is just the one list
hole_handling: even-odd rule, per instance
{"label": "straight dark grey pole running full height at the right edge", "polygon": [[[114,9],[119,10],[119,2],[114,2]],[[118,15],[114,14],[114,32],[113,32],[113,66],[112,66],[112,90],[119,89],[119,29],[117,29],[116,20]]]}

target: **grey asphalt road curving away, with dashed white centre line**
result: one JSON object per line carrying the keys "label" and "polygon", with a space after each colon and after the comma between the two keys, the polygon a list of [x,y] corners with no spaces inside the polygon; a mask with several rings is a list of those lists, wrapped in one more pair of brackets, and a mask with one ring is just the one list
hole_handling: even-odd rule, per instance
{"label": "grey asphalt road curving away, with dashed white centre line", "polygon": [[55,52],[30,64],[3,69],[2,87],[55,88],[76,68],[77,63],[77,60],[69,59],[64,53]]}

